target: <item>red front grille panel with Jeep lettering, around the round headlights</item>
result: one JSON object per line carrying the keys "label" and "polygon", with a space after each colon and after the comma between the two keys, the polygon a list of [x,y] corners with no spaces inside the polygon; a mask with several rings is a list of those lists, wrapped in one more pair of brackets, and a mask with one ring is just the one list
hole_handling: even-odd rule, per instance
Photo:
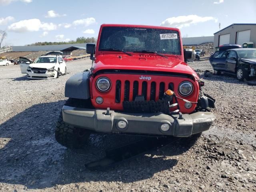
{"label": "red front grille panel with Jeep lettering, around the round headlights", "polygon": [[[100,92],[96,88],[96,81],[100,77],[107,77],[111,80],[112,86],[108,92]],[[142,79],[143,77],[145,78]],[[146,77],[148,78],[146,79]],[[160,74],[160,72],[159,74],[148,74],[145,72],[138,73],[137,71],[128,74],[125,72],[104,72],[104,74],[94,76],[91,82],[92,87],[90,88],[91,101],[94,108],[106,109],[109,107],[111,110],[124,111],[124,102],[131,102],[136,105],[137,100],[133,102],[136,96],[144,96],[145,102],[143,102],[143,104],[151,108],[151,101],[159,104],[158,100],[162,99],[164,92],[168,89],[173,90],[177,96],[182,97],[178,93],[178,85],[184,80],[190,81],[194,86],[193,94],[186,97],[186,99],[191,102],[197,102],[199,95],[198,86],[194,80],[191,80],[185,75]],[[104,102],[102,104],[96,103],[95,99],[98,96],[103,98]],[[138,99],[138,102],[141,100],[142,97]],[[181,112],[191,113],[194,111],[195,107],[186,109],[183,100],[179,100],[178,102]],[[194,106],[196,106],[196,104],[194,104]],[[156,106],[154,106],[152,110],[153,109],[157,109]],[[134,108],[134,110],[138,110],[138,108]]]}

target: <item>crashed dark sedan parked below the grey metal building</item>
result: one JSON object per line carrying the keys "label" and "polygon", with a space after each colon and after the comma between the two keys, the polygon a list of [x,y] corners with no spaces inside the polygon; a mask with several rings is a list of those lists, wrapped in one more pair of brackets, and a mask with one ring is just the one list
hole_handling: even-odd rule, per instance
{"label": "crashed dark sedan parked below the grey metal building", "polygon": [[217,75],[221,72],[236,74],[240,81],[256,76],[256,48],[224,50],[221,54],[213,54],[209,60]]}

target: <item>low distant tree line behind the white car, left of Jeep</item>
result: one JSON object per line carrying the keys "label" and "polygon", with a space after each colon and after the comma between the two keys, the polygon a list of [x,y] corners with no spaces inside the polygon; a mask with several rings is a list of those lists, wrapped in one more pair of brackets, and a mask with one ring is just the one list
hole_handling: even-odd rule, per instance
{"label": "low distant tree line behind the white car, left of Jeep", "polygon": [[70,40],[68,42],[36,42],[31,45],[60,45],[60,44],[75,44],[75,43],[96,43],[97,39],[94,37],[78,37],[76,40]]}

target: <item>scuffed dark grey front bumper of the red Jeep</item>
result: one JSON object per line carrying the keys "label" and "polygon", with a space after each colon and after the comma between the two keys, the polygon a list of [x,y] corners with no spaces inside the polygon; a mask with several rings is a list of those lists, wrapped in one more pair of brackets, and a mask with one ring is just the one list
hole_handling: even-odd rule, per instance
{"label": "scuffed dark grey front bumper of the red Jeep", "polygon": [[[67,124],[85,128],[102,133],[126,133],[146,135],[169,135],[177,137],[188,137],[192,134],[206,131],[210,128],[215,117],[211,112],[196,112],[169,116],[158,113],[122,113],[102,109],[86,109],[64,106],[62,108],[63,120]],[[120,129],[118,121],[124,120],[128,126]],[[160,126],[163,123],[170,125],[168,131],[162,131]]]}

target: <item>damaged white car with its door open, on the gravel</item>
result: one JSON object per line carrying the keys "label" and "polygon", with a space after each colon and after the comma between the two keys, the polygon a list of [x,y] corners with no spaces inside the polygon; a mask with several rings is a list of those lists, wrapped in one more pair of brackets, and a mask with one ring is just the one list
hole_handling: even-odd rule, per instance
{"label": "damaged white car with its door open, on the gravel", "polygon": [[31,60],[20,57],[20,70],[30,79],[50,79],[65,75],[67,68],[62,59],[62,52],[48,52],[38,57],[33,63]]}

